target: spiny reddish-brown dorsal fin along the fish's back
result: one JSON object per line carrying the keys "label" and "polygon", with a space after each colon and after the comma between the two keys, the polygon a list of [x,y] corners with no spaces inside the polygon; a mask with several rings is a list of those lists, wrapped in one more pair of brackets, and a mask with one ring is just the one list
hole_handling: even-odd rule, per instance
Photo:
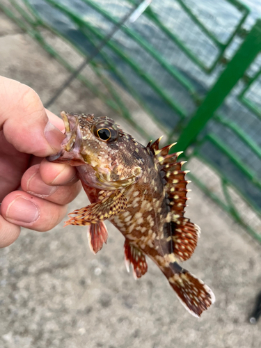
{"label": "spiny reddish-brown dorsal fin along the fish's back", "polygon": [[182,152],[168,155],[169,150],[175,143],[159,149],[160,139],[157,139],[155,143],[149,143],[148,148],[152,151],[155,162],[161,171],[166,199],[170,207],[168,221],[171,223],[171,235],[168,236],[168,242],[171,241],[173,243],[171,250],[175,257],[185,261],[191,258],[196,248],[200,228],[184,217],[184,208],[188,199],[187,192],[190,190],[187,189],[189,181],[185,180],[185,175],[188,171],[182,171],[182,165],[186,162],[177,162],[177,157]]}

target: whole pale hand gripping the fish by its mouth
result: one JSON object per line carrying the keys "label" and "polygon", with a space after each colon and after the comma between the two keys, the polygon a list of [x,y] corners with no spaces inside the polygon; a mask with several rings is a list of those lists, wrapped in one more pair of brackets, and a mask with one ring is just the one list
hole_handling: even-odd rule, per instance
{"label": "whole pale hand gripping the fish by its mouth", "polygon": [[81,190],[73,167],[45,159],[61,149],[63,129],[33,89],[0,77],[0,248],[21,227],[54,228]]}

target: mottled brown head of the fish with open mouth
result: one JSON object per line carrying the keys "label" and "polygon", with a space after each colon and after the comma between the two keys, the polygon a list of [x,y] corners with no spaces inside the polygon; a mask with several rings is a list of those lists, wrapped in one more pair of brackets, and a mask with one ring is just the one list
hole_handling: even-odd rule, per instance
{"label": "mottled brown head of the fish with open mouth", "polygon": [[49,161],[77,166],[82,180],[102,189],[119,189],[139,180],[143,159],[135,148],[140,144],[114,120],[65,111],[61,116],[65,139],[62,150],[47,157]]}

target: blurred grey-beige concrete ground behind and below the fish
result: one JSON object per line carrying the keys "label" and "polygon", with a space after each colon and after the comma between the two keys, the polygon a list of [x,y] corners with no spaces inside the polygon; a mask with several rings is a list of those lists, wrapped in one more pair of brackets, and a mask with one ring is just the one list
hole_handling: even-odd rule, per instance
{"label": "blurred grey-beige concrete ground behind and below the fish", "polygon": [[[0,47],[0,74],[29,84],[43,102],[68,76],[1,12]],[[77,81],[52,107],[62,109],[112,116]],[[125,122],[120,124],[141,140]],[[261,321],[248,323],[261,290],[260,246],[191,188],[187,216],[202,234],[185,267],[216,295],[202,318],[184,310],[150,260],[140,280],[127,274],[124,241],[116,228],[109,225],[108,244],[94,256],[86,228],[63,228],[61,223],[45,233],[24,229],[15,244],[0,251],[0,347],[261,347]],[[69,211],[87,204],[82,192]]]}

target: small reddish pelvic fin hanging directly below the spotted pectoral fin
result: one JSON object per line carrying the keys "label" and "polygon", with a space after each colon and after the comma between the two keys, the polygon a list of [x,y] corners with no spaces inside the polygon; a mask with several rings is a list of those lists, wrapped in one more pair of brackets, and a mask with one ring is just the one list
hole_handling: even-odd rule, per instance
{"label": "small reddish pelvic fin hanging directly below the spotted pectoral fin", "polygon": [[108,231],[103,221],[91,223],[87,231],[90,250],[96,254],[108,239]]}

